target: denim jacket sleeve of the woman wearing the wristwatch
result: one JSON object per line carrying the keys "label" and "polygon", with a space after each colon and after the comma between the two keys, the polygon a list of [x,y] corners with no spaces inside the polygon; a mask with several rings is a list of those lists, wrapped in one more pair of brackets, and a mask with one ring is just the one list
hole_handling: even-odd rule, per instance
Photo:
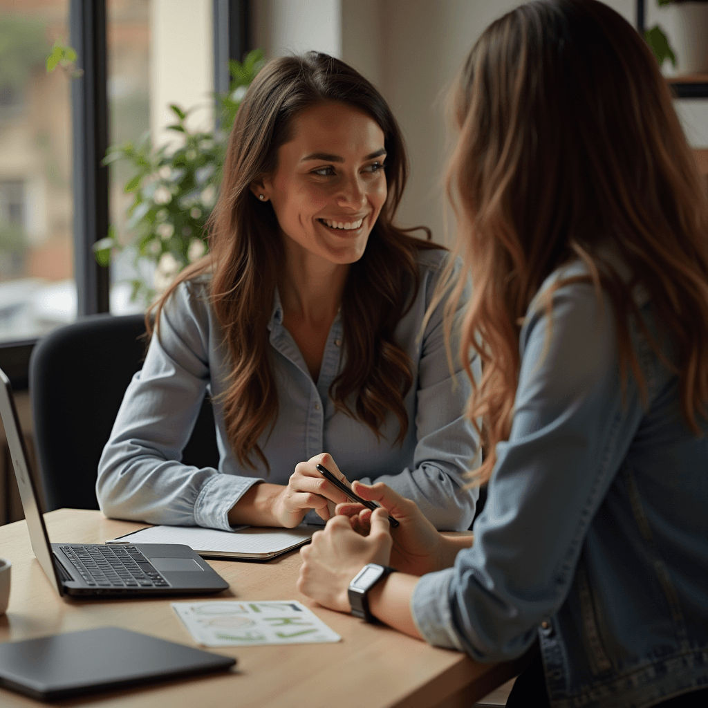
{"label": "denim jacket sleeve of the woman wearing the wristwatch", "polygon": [[474,546],[421,578],[411,600],[428,641],[479,661],[520,656],[564,603],[644,413],[632,377],[622,404],[612,308],[591,286],[557,290],[552,318],[530,309],[521,348],[513,424]]}

